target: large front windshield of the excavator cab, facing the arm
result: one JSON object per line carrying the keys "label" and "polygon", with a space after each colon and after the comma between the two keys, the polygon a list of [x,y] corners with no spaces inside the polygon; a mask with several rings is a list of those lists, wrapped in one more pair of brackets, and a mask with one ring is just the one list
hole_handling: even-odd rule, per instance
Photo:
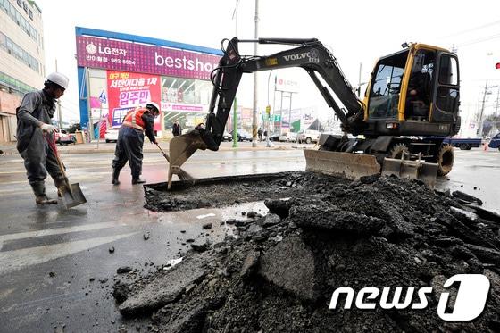
{"label": "large front windshield of the excavator cab, facing the arm", "polygon": [[393,54],[379,61],[372,78],[368,112],[370,118],[395,118],[401,80],[408,51]]}

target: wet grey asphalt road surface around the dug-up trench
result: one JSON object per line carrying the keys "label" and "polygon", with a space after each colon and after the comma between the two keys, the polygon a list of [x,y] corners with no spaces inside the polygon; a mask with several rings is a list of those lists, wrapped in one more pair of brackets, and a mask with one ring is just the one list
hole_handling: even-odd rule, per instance
{"label": "wet grey asphalt road surface around the dug-up trench", "polygon": [[[455,152],[454,171],[440,179],[437,187],[460,189],[478,196],[488,209],[498,209],[500,153]],[[63,161],[71,182],[80,184],[88,201],[70,211],[37,207],[21,158],[0,157],[1,332],[117,330],[126,321],[111,296],[118,267],[129,265],[142,272],[157,269],[187,249],[183,243],[188,237],[221,239],[230,230],[220,226],[220,221],[242,210],[265,211],[262,203],[250,203],[224,209],[148,212],[142,207],[143,188],[130,184],[128,167],[122,171],[119,187],[110,184],[112,154],[66,154]],[[304,166],[299,149],[223,151],[196,153],[186,170],[197,177],[211,177],[297,171]],[[149,182],[164,181],[162,155],[146,153],[143,173]],[[54,187],[47,183],[47,188],[54,196]],[[213,229],[206,234],[202,225],[208,221]],[[145,240],[145,235],[150,237]]]}

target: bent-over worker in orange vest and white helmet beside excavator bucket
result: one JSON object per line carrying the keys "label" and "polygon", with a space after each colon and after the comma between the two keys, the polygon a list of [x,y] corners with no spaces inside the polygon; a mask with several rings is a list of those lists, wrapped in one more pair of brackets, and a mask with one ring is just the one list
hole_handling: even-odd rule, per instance
{"label": "bent-over worker in orange vest and white helmet beside excavator bucket", "polygon": [[132,184],[146,183],[141,179],[142,173],[142,147],[144,146],[144,134],[151,143],[156,144],[153,125],[154,118],[160,114],[160,107],[154,102],[149,102],[146,107],[137,108],[127,113],[118,132],[118,141],[114,150],[112,160],[112,184],[118,185],[120,181],[121,168],[129,162],[132,171]]}

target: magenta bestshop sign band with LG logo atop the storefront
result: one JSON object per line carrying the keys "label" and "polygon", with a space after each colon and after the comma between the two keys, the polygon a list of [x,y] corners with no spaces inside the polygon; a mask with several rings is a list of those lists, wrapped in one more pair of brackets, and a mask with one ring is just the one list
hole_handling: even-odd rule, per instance
{"label": "magenta bestshop sign band with LG logo atop the storefront", "polygon": [[186,79],[210,79],[220,56],[114,39],[77,36],[80,67],[133,71]]}

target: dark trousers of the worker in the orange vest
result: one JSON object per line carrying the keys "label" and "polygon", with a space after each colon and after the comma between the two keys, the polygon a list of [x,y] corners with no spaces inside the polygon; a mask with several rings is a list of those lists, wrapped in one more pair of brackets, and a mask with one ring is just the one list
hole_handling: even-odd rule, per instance
{"label": "dark trousers of the worker in the orange vest", "polygon": [[142,146],[144,146],[144,133],[141,130],[121,126],[112,169],[121,170],[129,162],[132,178],[138,178],[142,173]]}

